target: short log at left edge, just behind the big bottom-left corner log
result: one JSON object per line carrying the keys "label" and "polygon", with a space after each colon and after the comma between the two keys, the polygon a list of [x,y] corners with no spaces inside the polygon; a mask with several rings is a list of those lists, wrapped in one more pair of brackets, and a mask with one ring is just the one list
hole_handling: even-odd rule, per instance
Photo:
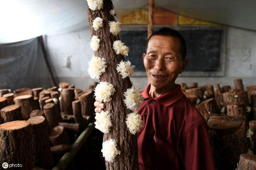
{"label": "short log at left edge, just behind the big bottom-left corner log", "polygon": [[1,116],[4,122],[22,120],[20,106],[13,104],[1,109]]}

